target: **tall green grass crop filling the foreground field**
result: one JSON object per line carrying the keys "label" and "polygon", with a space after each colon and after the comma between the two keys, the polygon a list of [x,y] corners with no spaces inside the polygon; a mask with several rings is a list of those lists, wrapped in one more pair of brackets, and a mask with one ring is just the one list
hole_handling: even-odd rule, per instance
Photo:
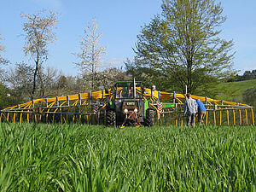
{"label": "tall green grass crop filling the foreground field", "polygon": [[0,191],[256,191],[253,126],[0,124]]}

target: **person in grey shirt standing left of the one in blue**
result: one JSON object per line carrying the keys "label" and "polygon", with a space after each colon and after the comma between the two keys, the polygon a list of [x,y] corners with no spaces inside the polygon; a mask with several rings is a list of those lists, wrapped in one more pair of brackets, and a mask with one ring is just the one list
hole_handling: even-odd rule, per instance
{"label": "person in grey shirt standing left of the one in blue", "polygon": [[197,113],[197,104],[195,99],[191,98],[191,94],[187,94],[187,100],[184,104],[184,115],[187,114],[187,125],[195,125],[194,124],[194,119],[195,119],[195,114]]}

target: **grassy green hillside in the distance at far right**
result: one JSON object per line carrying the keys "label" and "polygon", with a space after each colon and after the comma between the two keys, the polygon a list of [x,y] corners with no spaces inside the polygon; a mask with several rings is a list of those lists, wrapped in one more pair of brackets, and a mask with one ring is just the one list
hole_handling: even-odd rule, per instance
{"label": "grassy green hillside in the distance at far right", "polygon": [[218,98],[242,102],[242,92],[250,88],[256,88],[256,79],[218,84]]}

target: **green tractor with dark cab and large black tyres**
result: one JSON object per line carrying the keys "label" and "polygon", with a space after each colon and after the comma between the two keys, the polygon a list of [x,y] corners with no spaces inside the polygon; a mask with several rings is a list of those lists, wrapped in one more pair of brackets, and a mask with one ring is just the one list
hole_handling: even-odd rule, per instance
{"label": "green tractor with dark cab and large black tyres", "polygon": [[155,110],[144,94],[141,81],[116,83],[106,108],[107,126],[153,126]]}

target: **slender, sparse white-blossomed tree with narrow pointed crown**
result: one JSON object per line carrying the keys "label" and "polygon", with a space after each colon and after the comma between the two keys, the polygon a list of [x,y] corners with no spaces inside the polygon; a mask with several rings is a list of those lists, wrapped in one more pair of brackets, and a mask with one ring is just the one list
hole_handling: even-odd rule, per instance
{"label": "slender, sparse white-blossomed tree with narrow pointed crown", "polygon": [[106,48],[100,44],[102,32],[98,32],[96,19],[88,23],[87,30],[84,29],[84,37],[81,37],[81,53],[75,54],[79,58],[76,66],[80,69],[82,77],[90,80],[91,90],[95,89],[96,75],[102,68],[102,56],[106,54]]}

